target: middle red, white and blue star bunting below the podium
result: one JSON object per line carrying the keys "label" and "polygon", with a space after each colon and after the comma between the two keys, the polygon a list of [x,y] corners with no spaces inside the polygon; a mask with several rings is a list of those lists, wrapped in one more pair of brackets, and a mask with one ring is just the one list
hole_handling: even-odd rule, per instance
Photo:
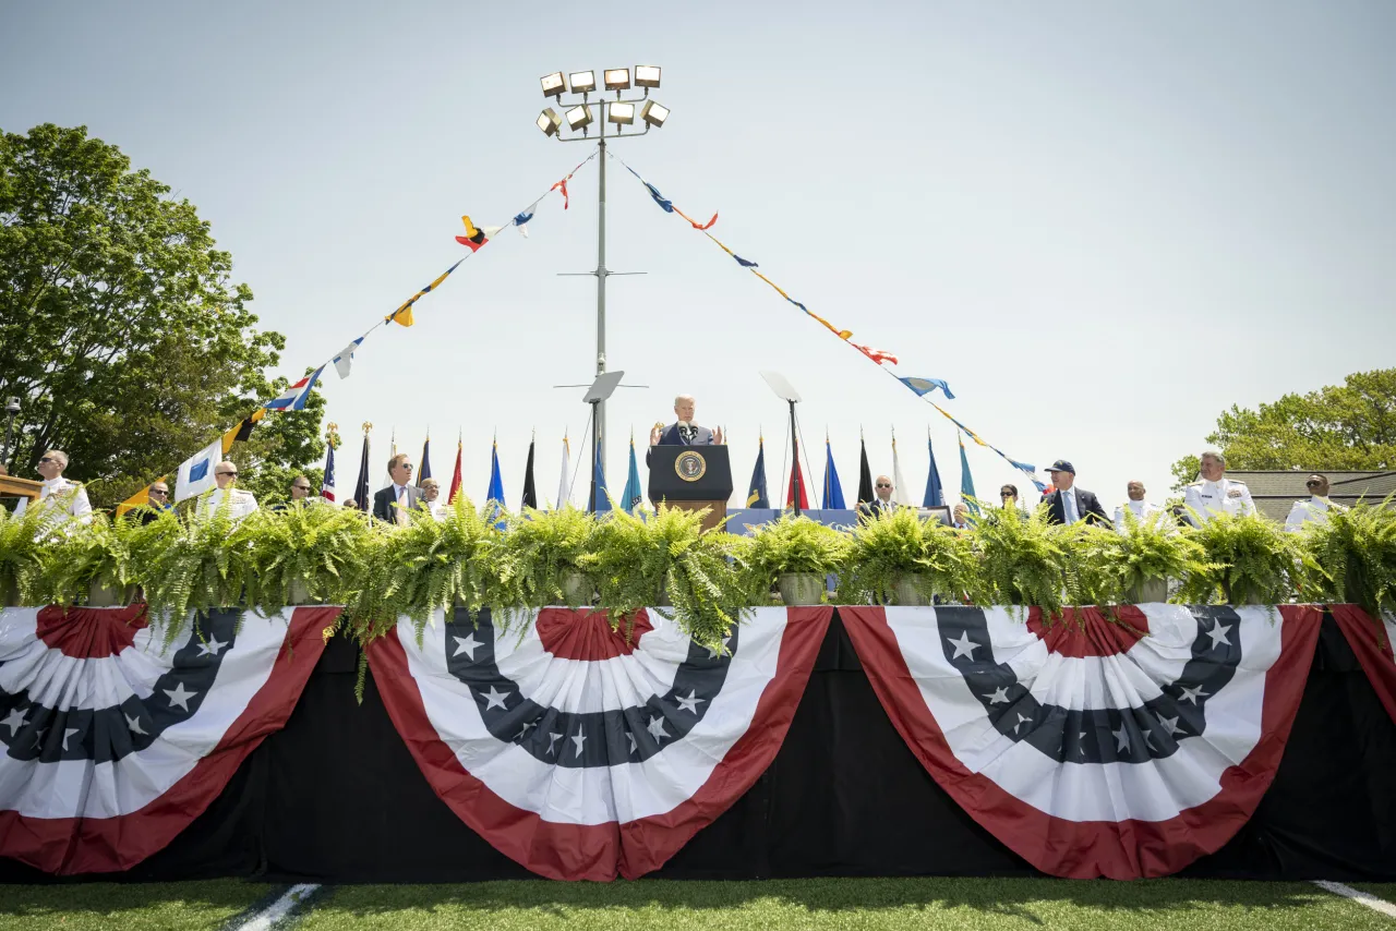
{"label": "middle red, white and blue star bunting below the podium", "polygon": [[775,759],[833,610],[755,609],[727,652],[656,610],[543,609],[500,630],[437,616],[374,641],[394,724],[436,793],[554,879],[663,865]]}

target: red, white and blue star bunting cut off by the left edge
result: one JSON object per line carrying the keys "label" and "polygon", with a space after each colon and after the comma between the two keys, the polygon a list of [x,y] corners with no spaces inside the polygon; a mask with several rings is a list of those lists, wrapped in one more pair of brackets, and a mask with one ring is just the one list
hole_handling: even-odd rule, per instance
{"label": "red, white and blue star bunting cut off by the left edge", "polygon": [[338,614],[215,611],[165,645],[144,606],[0,611],[0,856],[110,872],[165,847],[286,723]]}

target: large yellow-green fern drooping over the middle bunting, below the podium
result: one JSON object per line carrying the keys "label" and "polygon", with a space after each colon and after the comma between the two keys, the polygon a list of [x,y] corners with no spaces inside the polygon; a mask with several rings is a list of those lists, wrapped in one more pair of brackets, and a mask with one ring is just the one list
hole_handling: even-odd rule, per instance
{"label": "large yellow-green fern drooping over the middle bunting, below the podium", "polygon": [[[600,607],[611,625],[628,624],[641,607],[656,609],[704,646],[722,649],[741,620],[748,596],[741,572],[729,564],[732,537],[702,532],[704,511],[664,504],[658,511],[613,511],[596,525]],[[667,599],[662,597],[662,593]]]}

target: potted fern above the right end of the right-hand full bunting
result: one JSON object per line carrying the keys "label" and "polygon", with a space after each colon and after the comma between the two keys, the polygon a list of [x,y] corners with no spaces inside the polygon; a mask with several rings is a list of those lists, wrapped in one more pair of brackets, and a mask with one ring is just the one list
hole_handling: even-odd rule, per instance
{"label": "potted fern above the right end of the right-hand full bunting", "polygon": [[1202,563],[1184,575],[1184,603],[1279,604],[1290,600],[1314,558],[1291,533],[1259,515],[1213,514],[1184,532]]}

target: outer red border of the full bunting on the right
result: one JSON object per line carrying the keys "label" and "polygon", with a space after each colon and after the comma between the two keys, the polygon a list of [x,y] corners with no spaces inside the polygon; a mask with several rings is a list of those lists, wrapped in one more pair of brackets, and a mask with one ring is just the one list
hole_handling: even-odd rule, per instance
{"label": "outer red border of the full bunting on the right", "polygon": [[1289,741],[1318,643],[1322,611],[1280,604],[1279,659],[1265,676],[1262,737],[1222,775],[1215,798],[1167,821],[1067,821],[1048,815],[972,773],[951,751],[902,657],[881,607],[840,607],[839,617],[872,691],[907,747],[941,789],[1013,853],[1037,870],[1072,879],[1138,879],[1174,874],[1220,849],[1240,831],[1270,782]]}

